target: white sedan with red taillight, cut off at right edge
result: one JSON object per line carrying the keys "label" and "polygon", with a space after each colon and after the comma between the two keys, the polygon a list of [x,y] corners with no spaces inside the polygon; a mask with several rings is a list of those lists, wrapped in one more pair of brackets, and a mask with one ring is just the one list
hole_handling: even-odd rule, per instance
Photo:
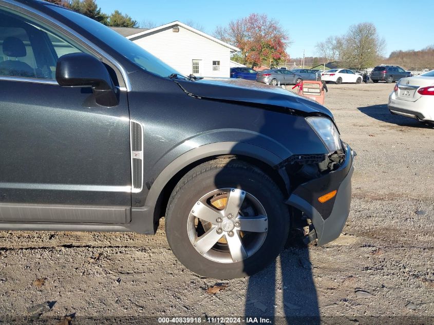
{"label": "white sedan with red taillight, cut off at right edge", "polygon": [[434,70],[400,79],[389,95],[388,107],[392,114],[434,123]]}

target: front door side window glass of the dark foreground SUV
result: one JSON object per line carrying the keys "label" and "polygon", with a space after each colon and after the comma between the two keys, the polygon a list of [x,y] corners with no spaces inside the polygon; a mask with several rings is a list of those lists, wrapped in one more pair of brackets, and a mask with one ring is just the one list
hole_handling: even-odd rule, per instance
{"label": "front door side window glass of the dark foreground SUV", "polygon": [[0,10],[0,75],[55,79],[60,56],[82,52],[37,22]]}

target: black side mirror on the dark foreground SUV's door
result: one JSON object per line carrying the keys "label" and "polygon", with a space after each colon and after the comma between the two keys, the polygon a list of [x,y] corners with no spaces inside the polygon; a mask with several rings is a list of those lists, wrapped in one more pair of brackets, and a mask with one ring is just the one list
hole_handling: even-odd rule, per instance
{"label": "black side mirror on the dark foreground SUV's door", "polygon": [[119,104],[118,91],[104,64],[86,53],[62,55],[56,65],[56,81],[62,87],[91,87],[97,104]]}

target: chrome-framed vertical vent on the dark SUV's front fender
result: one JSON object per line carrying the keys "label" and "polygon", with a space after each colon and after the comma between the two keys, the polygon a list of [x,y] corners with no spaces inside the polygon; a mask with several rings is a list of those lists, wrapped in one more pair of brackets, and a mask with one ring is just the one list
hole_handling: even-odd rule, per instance
{"label": "chrome-framed vertical vent on the dark SUV's front fender", "polygon": [[143,189],[143,125],[129,121],[129,139],[131,148],[131,193]]}

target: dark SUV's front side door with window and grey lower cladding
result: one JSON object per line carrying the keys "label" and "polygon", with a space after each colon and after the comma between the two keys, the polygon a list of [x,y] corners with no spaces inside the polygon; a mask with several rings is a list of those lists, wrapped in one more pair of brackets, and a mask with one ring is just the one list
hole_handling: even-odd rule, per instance
{"label": "dark SUV's front side door with window and grey lower cladding", "polygon": [[59,86],[59,56],[85,50],[33,18],[1,9],[0,41],[12,59],[0,63],[0,208],[12,211],[0,221],[128,222],[126,91],[102,107],[90,88]]}

